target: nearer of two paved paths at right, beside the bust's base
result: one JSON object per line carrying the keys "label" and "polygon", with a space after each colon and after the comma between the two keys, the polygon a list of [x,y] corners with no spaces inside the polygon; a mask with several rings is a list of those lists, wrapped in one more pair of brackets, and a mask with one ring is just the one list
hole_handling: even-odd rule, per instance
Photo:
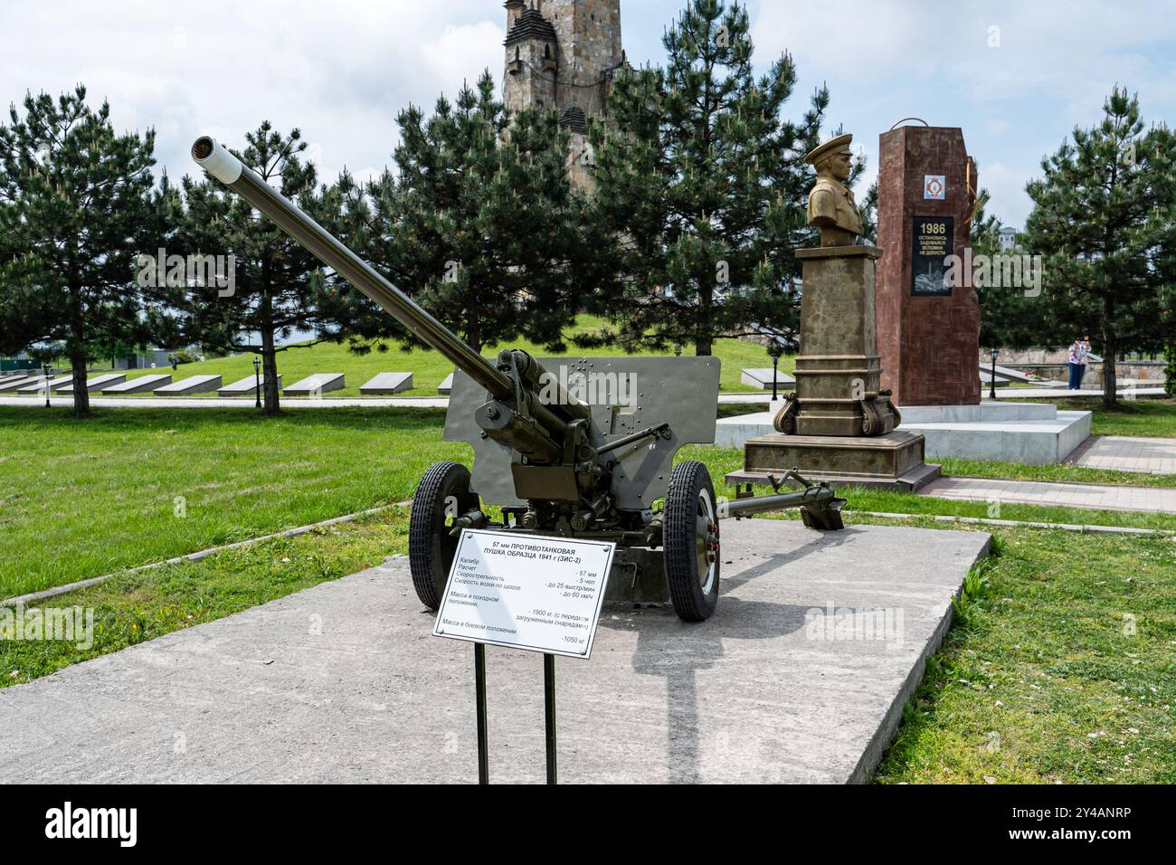
{"label": "nearer of two paved paths at right, beside the bust's base", "polygon": [[1176,513],[1176,490],[1160,487],[940,478],[923,487],[921,493],[938,499],[1057,505],[1061,507],[1089,507],[1098,511]]}

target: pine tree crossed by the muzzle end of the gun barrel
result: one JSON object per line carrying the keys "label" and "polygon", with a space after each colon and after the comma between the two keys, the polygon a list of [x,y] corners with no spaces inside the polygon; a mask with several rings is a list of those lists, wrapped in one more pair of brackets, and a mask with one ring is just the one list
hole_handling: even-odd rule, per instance
{"label": "pine tree crossed by the muzzle end of the gun barrel", "polygon": [[[332,214],[325,208],[334,199],[318,188],[315,166],[299,158],[307,146],[301,132],[282,134],[267,120],[247,133],[246,141],[242,152],[233,153],[329,228]],[[310,345],[330,335],[333,321],[322,311],[321,265],[219,180],[185,178],[183,191],[187,215],[183,238],[178,240],[183,254],[222,255],[226,260],[232,255],[235,264],[232,294],[216,285],[187,286],[185,333],[206,351],[260,355],[265,412],[278,414],[278,355],[295,347],[279,342],[301,332],[328,332]]]}

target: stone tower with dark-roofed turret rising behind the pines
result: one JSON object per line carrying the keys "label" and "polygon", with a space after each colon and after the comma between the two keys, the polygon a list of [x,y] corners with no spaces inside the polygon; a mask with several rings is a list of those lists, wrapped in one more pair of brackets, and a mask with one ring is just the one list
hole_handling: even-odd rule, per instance
{"label": "stone tower with dark-roofed turret rising behind the pines", "polygon": [[555,108],[572,133],[572,181],[590,188],[588,118],[607,112],[624,62],[621,0],[507,0],[502,101],[512,113]]}

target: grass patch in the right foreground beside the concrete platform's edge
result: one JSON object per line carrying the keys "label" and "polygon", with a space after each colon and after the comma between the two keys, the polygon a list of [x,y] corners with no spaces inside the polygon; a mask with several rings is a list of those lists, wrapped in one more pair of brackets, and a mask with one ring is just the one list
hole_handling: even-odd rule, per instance
{"label": "grass patch in the right foreground beside the concrete platform's edge", "polygon": [[1176,781],[1176,546],[995,534],[875,780]]}

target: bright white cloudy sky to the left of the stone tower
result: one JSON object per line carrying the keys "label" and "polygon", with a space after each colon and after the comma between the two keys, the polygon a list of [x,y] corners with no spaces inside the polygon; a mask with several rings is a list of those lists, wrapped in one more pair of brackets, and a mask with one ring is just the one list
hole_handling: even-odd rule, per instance
{"label": "bright white cloudy sky to the left of the stone tower", "polygon": [[483,68],[501,79],[505,22],[486,0],[15,0],[0,11],[0,95],[83,82],[116,128],[155,128],[175,177],[198,134],[240,146],[263,119],[300,127],[325,177],[368,173],[390,162],[409,102],[430,107]]}

